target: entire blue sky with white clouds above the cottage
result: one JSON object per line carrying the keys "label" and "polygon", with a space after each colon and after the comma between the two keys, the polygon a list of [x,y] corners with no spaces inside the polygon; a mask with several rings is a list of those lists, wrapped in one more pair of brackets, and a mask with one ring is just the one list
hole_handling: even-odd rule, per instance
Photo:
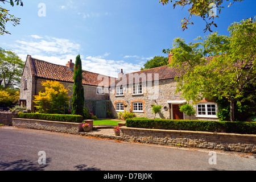
{"label": "entire blue sky with white clouds above the cottage", "polygon": [[[232,1],[233,2],[233,1]],[[154,56],[167,56],[163,49],[171,48],[177,37],[192,42],[204,33],[205,22],[193,16],[188,30],[181,30],[181,19],[188,17],[187,8],[173,9],[158,0],[40,0],[23,1],[24,6],[1,6],[21,18],[16,27],[6,29],[11,35],[0,36],[0,47],[12,49],[22,60],[27,55],[51,63],[65,65],[78,54],[82,69],[117,77],[119,69],[139,71]],[[45,16],[42,6],[45,5]],[[213,31],[229,35],[233,22],[256,15],[256,1],[245,0],[228,7],[223,4],[220,18],[215,18]]]}

